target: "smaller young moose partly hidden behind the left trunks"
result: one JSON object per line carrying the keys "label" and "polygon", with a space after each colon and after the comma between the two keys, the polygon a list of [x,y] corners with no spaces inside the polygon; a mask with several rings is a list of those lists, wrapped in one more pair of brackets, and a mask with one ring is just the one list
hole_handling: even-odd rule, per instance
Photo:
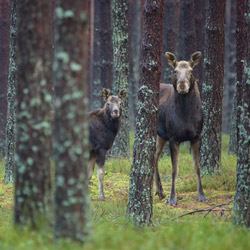
{"label": "smaller young moose partly hidden behind the left trunks", "polygon": [[102,91],[105,105],[88,114],[90,156],[88,177],[91,179],[95,163],[99,182],[99,200],[104,201],[103,179],[104,163],[107,151],[112,147],[121,122],[121,101],[126,97],[126,90],[119,91],[118,96],[111,95],[107,89]]}

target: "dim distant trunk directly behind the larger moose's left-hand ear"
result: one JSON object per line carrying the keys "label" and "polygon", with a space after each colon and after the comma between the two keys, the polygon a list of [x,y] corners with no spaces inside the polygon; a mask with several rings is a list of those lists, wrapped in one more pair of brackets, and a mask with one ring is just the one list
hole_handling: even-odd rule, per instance
{"label": "dim distant trunk directly behind the larger moose's left-hand ear", "polygon": [[180,0],[165,1],[165,15],[163,24],[163,53],[162,60],[162,82],[172,83],[173,69],[167,64],[165,53],[167,51],[177,54],[177,40],[179,30]]}

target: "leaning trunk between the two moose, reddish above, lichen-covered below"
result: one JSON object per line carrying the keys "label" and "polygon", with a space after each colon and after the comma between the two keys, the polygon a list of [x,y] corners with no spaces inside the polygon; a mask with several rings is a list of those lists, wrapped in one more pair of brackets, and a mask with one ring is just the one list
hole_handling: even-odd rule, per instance
{"label": "leaning trunk between the two moose, reddish above, lichen-covered below", "polygon": [[152,224],[164,1],[147,0],[143,10],[141,78],[127,214],[137,226]]}

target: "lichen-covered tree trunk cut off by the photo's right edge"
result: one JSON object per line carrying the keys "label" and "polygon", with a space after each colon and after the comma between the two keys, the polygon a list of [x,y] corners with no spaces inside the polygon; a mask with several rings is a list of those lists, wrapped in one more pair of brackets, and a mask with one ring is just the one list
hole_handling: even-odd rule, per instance
{"label": "lichen-covered tree trunk cut off by the photo's right edge", "polygon": [[[238,225],[245,225],[250,228],[250,1],[241,5],[243,17],[245,17],[245,31],[241,33],[241,40],[246,41],[248,46],[244,48],[246,55],[243,64],[242,77],[242,102],[240,103],[240,120],[239,120],[239,146],[237,157],[237,180],[234,198],[234,222]],[[242,22],[240,27],[243,28]],[[239,24],[239,23],[238,23]],[[239,34],[238,34],[239,35]],[[242,51],[243,52],[243,51]]]}

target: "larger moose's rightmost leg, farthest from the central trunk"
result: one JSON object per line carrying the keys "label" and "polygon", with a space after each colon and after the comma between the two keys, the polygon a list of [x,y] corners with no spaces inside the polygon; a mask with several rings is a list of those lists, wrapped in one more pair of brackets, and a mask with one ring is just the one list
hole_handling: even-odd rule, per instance
{"label": "larger moose's rightmost leg, farthest from the central trunk", "polygon": [[197,180],[197,191],[198,191],[198,201],[207,202],[205,198],[205,194],[203,192],[202,184],[201,184],[201,176],[200,176],[200,147],[201,141],[198,140],[196,142],[191,142],[191,151],[193,156],[193,164],[194,164],[194,171],[196,174]]}

